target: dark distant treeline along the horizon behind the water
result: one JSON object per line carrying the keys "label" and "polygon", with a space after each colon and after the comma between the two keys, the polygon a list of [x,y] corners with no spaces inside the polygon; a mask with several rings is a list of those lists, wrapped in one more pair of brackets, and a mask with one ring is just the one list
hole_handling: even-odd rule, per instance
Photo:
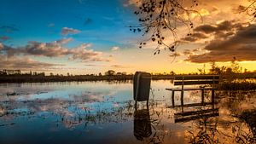
{"label": "dark distant treeline along the horizon behind the water", "polygon": [[[158,74],[152,75],[152,80],[170,79],[172,80],[177,75],[171,74]],[[30,74],[12,74],[12,75],[0,75],[0,83],[44,83],[44,82],[72,82],[72,81],[131,81],[133,75],[50,75],[45,76],[40,73],[37,75]],[[223,79],[230,79],[230,75],[222,75]],[[244,79],[244,78],[256,78],[255,72],[250,73],[237,73],[233,74],[231,79]]]}

